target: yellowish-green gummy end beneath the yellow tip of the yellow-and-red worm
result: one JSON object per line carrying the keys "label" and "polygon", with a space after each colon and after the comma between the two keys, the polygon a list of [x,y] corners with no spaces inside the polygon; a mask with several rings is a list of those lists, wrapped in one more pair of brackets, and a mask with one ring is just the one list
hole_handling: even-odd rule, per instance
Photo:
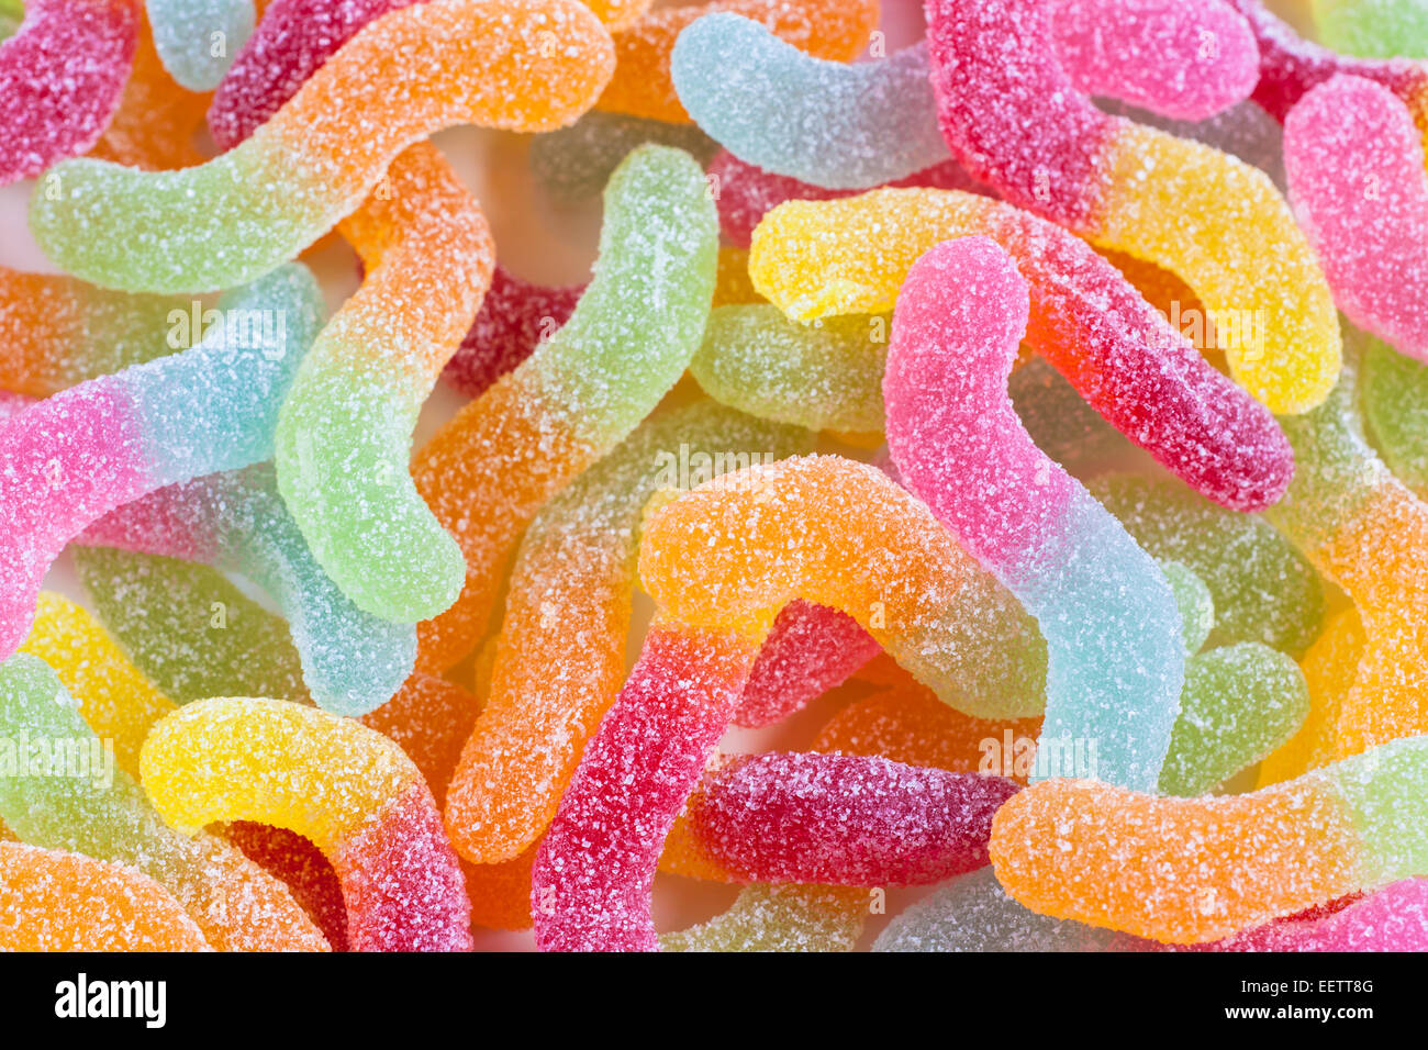
{"label": "yellowish-green gummy end beneath the yellow tip of the yellow-and-red worm", "polygon": [[887,314],[813,324],[777,306],[710,311],[690,373],[704,391],[751,416],[810,430],[881,431]]}

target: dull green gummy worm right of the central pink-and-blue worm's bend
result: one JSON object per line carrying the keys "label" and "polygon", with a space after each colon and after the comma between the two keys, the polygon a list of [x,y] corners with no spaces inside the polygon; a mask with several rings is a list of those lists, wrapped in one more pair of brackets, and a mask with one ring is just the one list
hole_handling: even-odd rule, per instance
{"label": "dull green gummy worm right of the central pink-and-blue worm's bend", "polygon": [[1205,583],[1215,607],[1207,644],[1259,641],[1302,656],[1318,637],[1319,576],[1258,514],[1225,510],[1170,477],[1104,474],[1087,487],[1151,556],[1180,561]]}

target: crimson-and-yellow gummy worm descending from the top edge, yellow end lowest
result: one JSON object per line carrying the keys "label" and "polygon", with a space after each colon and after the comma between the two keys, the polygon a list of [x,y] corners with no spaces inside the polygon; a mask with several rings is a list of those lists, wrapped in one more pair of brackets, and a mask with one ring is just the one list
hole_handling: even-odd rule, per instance
{"label": "crimson-and-yellow gummy worm descending from the top edge, yellow end lowest", "polygon": [[1008,201],[1180,274],[1235,380],[1275,413],[1339,369],[1328,284],[1269,177],[1097,110],[1050,47],[1047,0],[930,0],[932,87],[952,156]]}

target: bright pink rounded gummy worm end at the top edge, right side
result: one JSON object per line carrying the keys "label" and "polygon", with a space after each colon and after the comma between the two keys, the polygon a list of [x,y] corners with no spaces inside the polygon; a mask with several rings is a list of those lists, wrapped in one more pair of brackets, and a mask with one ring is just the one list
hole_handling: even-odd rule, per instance
{"label": "bright pink rounded gummy worm end at the top edge, right side", "polygon": [[1050,0],[1050,11],[1057,57],[1087,94],[1204,120],[1259,79],[1254,30],[1222,0]]}

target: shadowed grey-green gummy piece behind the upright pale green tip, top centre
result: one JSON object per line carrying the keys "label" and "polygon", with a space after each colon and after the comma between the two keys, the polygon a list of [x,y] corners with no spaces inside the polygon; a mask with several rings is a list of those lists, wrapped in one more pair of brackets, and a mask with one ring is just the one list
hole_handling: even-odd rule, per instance
{"label": "shadowed grey-green gummy piece behind the upright pale green tip, top centre", "polygon": [[531,174],[557,203],[580,201],[600,193],[620,161],[647,143],[684,150],[701,166],[718,153],[718,143],[694,124],[591,110],[531,140]]}

